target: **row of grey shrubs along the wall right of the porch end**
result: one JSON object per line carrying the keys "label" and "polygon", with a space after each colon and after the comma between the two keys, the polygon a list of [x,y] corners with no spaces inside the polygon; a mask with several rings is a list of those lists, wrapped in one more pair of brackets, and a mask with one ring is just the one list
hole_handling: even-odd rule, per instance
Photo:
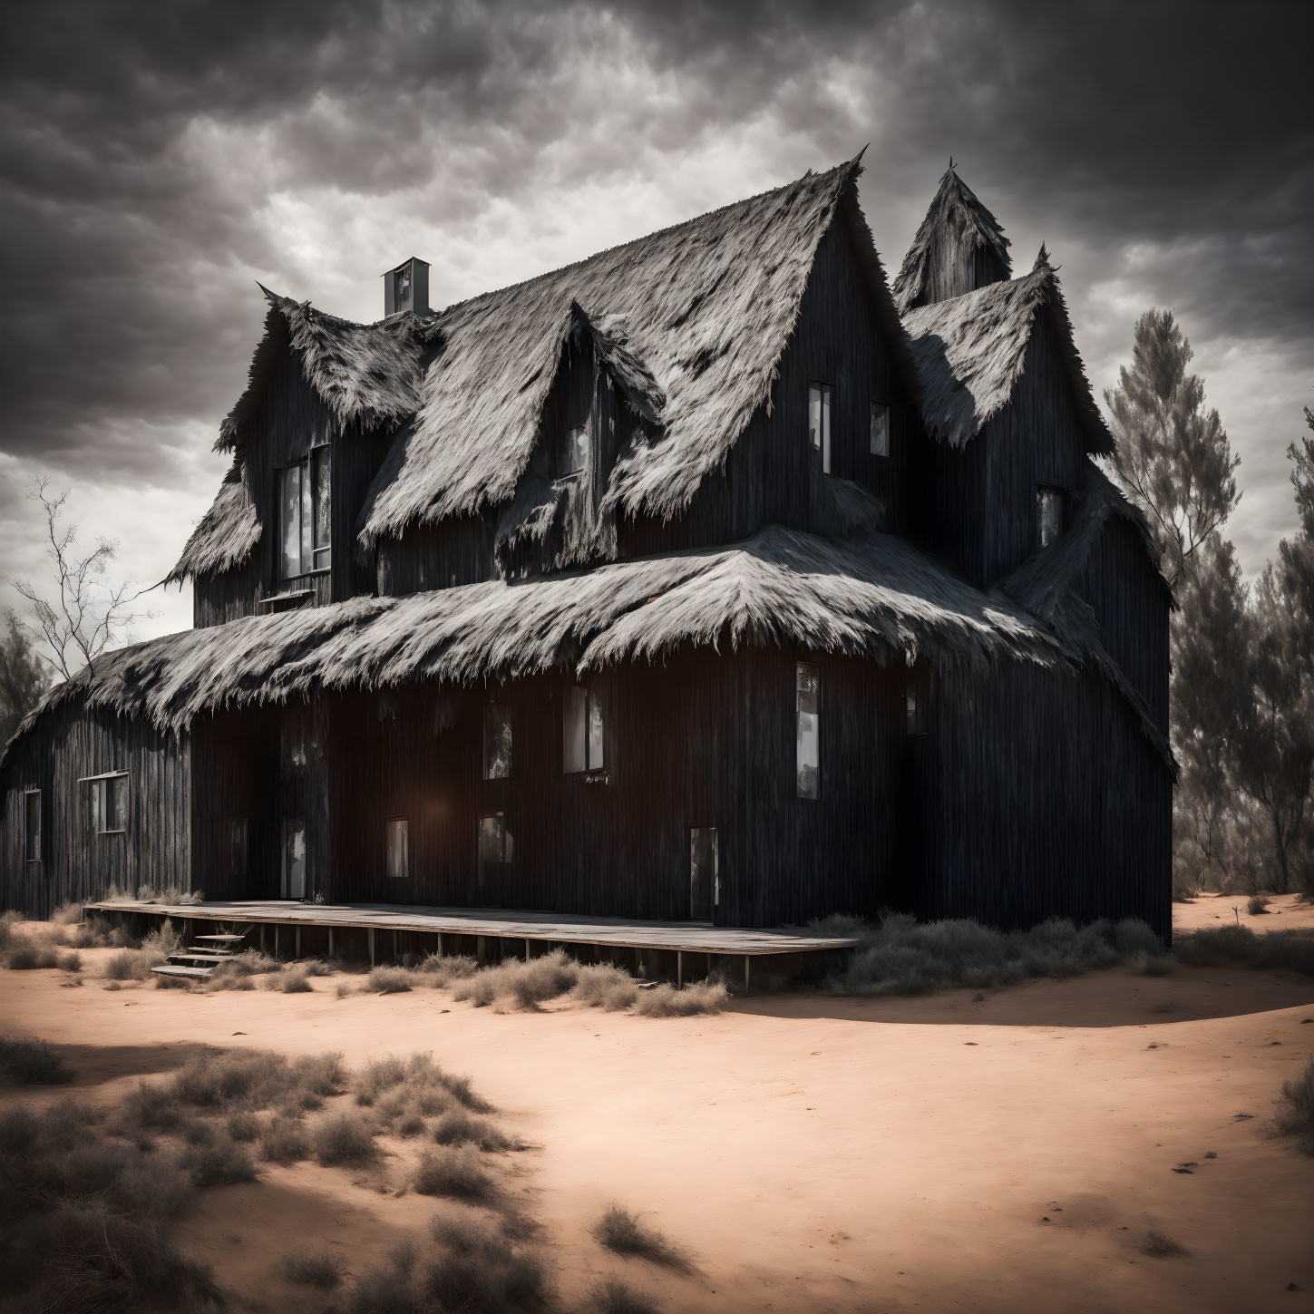
{"label": "row of grey shrubs along the wall right of the porch end", "polygon": [[1030,930],[1009,932],[968,918],[918,922],[905,913],[886,913],[878,926],[851,918],[815,925],[859,938],[844,971],[828,983],[841,995],[924,995],[955,986],[984,989],[1033,976],[1080,976],[1129,957],[1167,954],[1137,918],[1105,918],[1077,928],[1055,917]]}

